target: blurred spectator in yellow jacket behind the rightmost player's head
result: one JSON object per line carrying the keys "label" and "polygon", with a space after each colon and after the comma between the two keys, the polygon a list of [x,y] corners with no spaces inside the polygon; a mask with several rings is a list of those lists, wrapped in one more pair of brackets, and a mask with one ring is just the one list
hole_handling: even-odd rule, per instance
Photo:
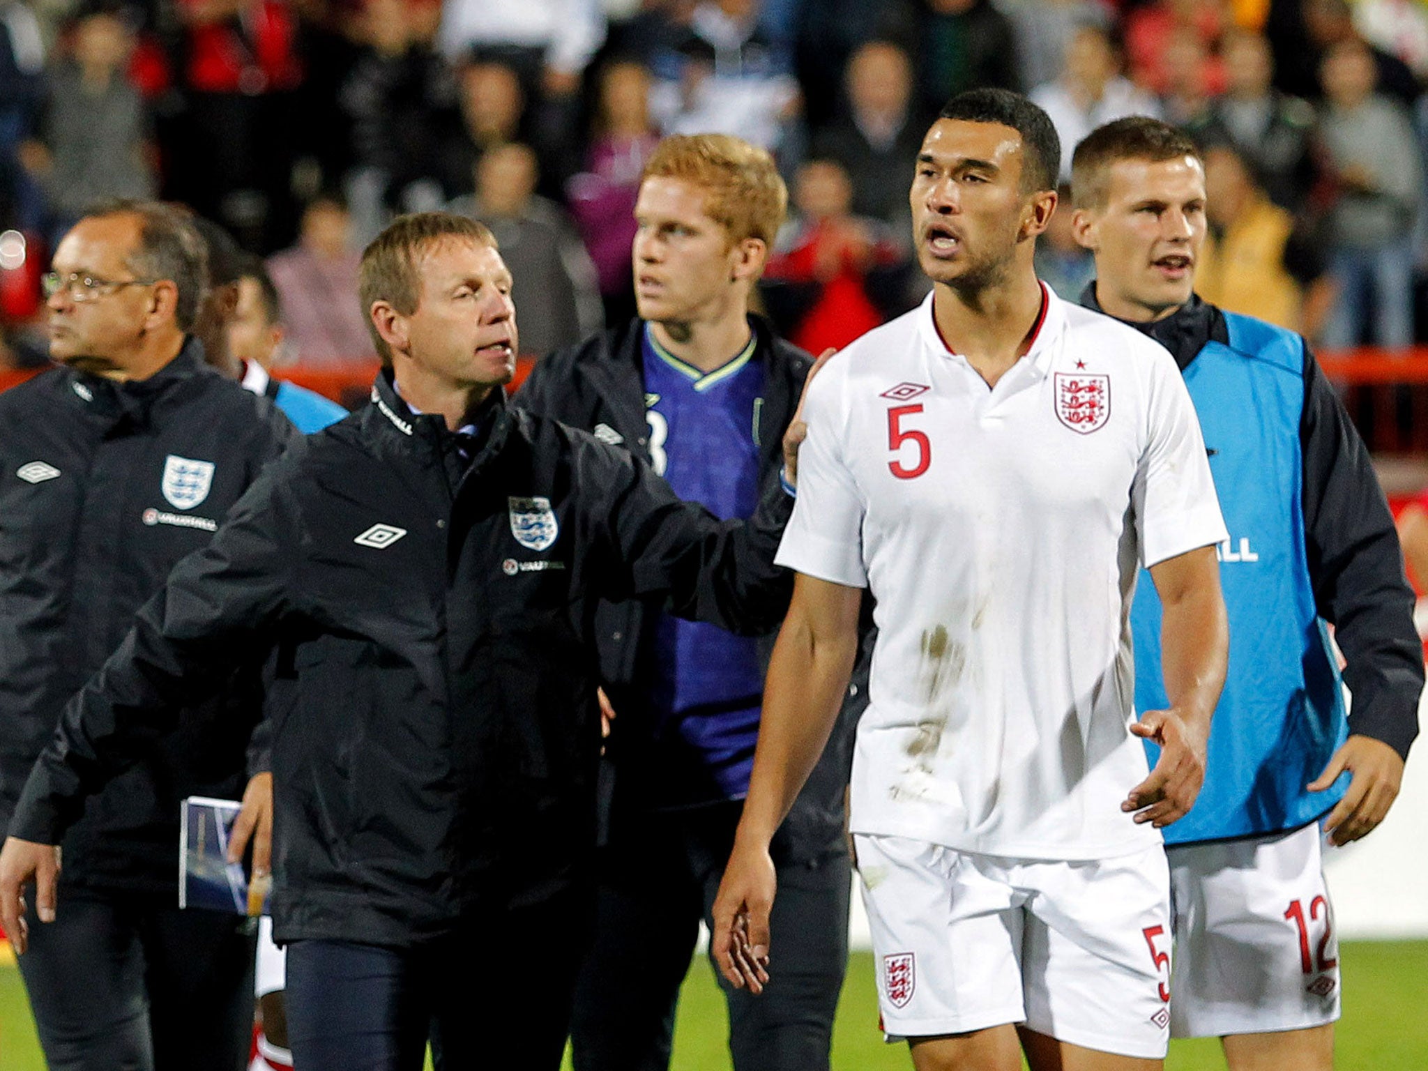
{"label": "blurred spectator in yellow jacket behind the rightmost player's head", "polygon": [[1232,146],[1205,151],[1205,217],[1195,293],[1228,313],[1317,338],[1334,306],[1319,243],[1269,200]]}

